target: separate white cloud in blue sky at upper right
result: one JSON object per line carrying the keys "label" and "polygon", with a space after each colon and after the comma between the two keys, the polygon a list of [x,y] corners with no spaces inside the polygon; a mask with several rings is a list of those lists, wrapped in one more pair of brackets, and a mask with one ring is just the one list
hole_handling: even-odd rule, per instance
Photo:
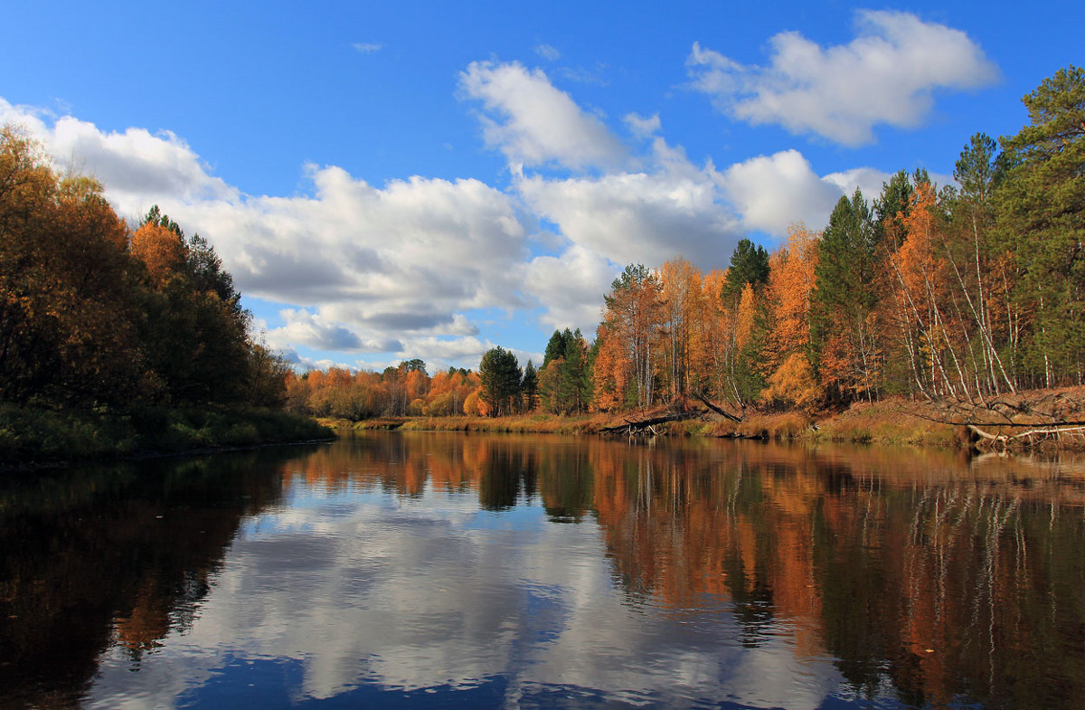
{"label": "separate white cloud in blue sky at upper right", "polygon": [[780,33],[769,40],[767,66],[694,43],[687,60],[692,85],[740,121],[855,147],[873,141],[879,124],[920,126],[935,90],[976,89],[997,77],[980,46],[958,29],[892,11],[861,11],[856,24],[852,42],[828,48]]}

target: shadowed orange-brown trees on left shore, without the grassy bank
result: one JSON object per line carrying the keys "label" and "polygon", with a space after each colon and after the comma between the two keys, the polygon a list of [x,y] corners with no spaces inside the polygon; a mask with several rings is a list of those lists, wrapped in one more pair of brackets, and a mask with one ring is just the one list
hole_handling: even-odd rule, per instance
{"label": "shadowed orange-brown trees on left shore, without the grassy bank", "polygon": [[136,229],[102,186],[0,128],[0,402],[281,406],[215,249],[157,206]]}

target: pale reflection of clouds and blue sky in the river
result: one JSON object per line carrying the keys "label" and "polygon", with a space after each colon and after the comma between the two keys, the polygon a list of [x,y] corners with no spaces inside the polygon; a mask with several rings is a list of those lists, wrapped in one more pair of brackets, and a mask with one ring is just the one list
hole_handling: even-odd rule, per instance
{"label": "pale reflection of clouds and blue sky in the river", "polygon": [[596,522],[549,522],[537,498],[292,490],[243,525],[190,630],[139,672],[102,659],[88,707],[802,709],[840,683],[783,626],[743,648],[718,600],[630,604]]}

